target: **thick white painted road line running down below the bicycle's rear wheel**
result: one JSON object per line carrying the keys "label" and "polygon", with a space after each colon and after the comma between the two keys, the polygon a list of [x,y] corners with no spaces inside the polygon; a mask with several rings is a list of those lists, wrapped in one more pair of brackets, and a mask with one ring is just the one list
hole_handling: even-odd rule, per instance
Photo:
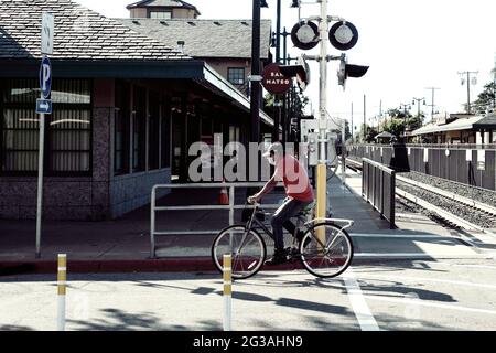
{"label": "thick white painted road line running down below the bicycle's rear wheel", "polygon": [[352,268],[346,271],[346,277],[344,277],[344,282],[346,286],[346,291],[348,292],[348,298],[355,312],[355,317],[358,320],[362,331],[380,331],[379,325],[374,319],[367,302],[362,293],[360,286],[355,279],[355,275]]}

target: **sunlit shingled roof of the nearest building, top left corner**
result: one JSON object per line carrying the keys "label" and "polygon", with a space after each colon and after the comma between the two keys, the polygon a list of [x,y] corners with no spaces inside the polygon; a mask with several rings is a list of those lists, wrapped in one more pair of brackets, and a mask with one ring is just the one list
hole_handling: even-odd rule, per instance
{"label": "sunlit shingled roof of the nearest building, top left corner", "polygon": [[52,58],[190,60],[163,42],[137,33],[71,0],[0,0],[0,58],[41,57],[41,22],[45,11],[55,19]]}

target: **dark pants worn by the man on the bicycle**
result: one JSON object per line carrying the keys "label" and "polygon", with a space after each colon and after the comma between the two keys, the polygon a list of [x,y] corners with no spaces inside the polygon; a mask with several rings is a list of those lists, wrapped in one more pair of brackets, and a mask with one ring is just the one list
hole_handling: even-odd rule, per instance
{"label": "dark pants worn by the man on the bicycle", "polygon": [[284,236],[282,228],[284,227],[290,234],[294,234],[296,226],[290,220],[299,214],[309,204],[311,204],[311,202],[301,202],[294,199],[287,199],[282,206],[276,211],[271,225],[277,250],[284,249]]}

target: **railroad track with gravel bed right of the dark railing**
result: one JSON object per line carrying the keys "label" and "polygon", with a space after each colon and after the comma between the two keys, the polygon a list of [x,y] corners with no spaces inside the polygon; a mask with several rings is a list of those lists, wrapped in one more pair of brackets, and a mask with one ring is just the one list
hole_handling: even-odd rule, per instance
{"label": "railroad track with gravel bed right of the dark railing", "polygon": [[[362,171],[359,162],[351,159],[346,162],[352,170]],[[400,174],[397,174],[396,194],[435,214],[448,224],[496,236],[496,207],[493,205]]]}

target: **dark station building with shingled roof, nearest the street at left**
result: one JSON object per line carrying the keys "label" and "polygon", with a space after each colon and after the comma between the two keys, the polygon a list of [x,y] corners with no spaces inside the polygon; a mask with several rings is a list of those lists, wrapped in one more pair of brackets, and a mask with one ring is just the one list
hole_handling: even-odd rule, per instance
{"label": "dark station building with shingled roof, nearest the street at left", "polygon": [[[147,205],[153,185],[187,182],[191,143],[213,143],[214,133],[223,133],[224,143],[248,141],[249,98],[205,60],[69,0],[4,0],[1,218],[35,217],[44,11],[55,18],[45,218],[119,217]],[[261,133],[270,132],[273,120],[259,116]]]}

